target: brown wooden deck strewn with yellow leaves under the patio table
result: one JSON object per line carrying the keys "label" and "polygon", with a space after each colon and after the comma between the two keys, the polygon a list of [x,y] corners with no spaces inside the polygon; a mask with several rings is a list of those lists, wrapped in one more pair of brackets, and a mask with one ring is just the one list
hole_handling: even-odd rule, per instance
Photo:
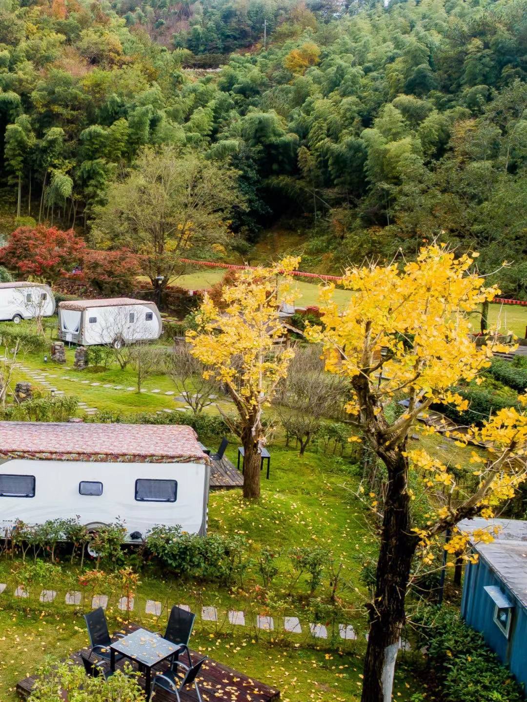
{"label": "brown wooden deck strewn with yellow leaves under the patio table", "polygon": [[[137,629],[136,625],[131,625],[127,628],[128,633]],[[81,651],[75,651],[74,654],[70,656],[77,665],[82,665],[80,654],[88,655],[88,649],[82,649]],[[202,657],[196,651],[190,651],[192,656],[192,662],[196,663]],[[116,663],[116,668],[122,668],[124,665],[124,660]],[[154,670],[166,670],[168,667],[167,663],[160,663],[156,665]],[[18,694],[27,699],[31,693],[32,687],[36,680],[36,676],[29,675],[23,680],[20,680],[16,686]],[[144,678],[140,677],[140,684],[144,684]],[[237,670],[232,670],[232,668],[227,668],[226,665],[218,663],[218,661],[213,661],[212,658],[208,658],[203,667],[201,668],[201,675],[197,678],[199,691],[204,700],[214,700],[215,702],[271,702],[280,699],[280,692],[268,685],[253,680],[247,677],[243,673],[239,673]],[[154,702],[174,702],[175,695],[168,694],[166,691],[156,688],[156,694],[154,695]],[[185,691],[181,694],[181,702],[196,702],[196,691],[194,687],[189,688],[189,691]]]}

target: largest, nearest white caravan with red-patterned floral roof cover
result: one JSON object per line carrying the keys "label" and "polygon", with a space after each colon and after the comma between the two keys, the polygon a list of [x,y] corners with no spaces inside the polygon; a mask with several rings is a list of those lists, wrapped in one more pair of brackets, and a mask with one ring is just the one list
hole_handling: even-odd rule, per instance
{"label": "largest, nearest white caravan with red-patterned floral roof cover", "polygon": [[182,425],[0,422],[0,534],[17,519],[117,517],[124,543],[155,524],[206,534],[210,459]]}

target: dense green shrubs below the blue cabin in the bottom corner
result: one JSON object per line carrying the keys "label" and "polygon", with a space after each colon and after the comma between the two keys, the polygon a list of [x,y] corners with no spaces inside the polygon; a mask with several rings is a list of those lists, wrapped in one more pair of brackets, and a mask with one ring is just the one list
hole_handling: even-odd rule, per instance
{"label": "dense green shrubs below the blue cabin in the bottom corner", "polygon": [[509,670],[457,610],[425,607],[413,621],[419,625],[419,647],[428,648],[427,665],[444,702],[524,700]]}

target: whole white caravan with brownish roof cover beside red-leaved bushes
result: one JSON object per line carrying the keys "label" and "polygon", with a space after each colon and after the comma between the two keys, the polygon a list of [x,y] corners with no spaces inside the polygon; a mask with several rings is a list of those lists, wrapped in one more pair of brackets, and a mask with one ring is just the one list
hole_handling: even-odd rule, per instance
{"label": "whole white caravan with brownish roof cover beside red-leaved bushes", "polygon": [[131,298],[76,300],[58,305],[58,336],[76,344],[112,344],[159,339],[161,315],[154,303]]}

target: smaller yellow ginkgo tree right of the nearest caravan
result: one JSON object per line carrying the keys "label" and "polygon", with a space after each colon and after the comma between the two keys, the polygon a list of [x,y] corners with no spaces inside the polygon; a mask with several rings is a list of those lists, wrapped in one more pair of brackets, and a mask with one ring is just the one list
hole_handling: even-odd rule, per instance
{"label": "smaller yellow ginkgo tree right of the nearest caravan", "polygon": [[[291,272],[300,259],[239,273],[222,289],[220,305],[206,295],[196,314],[197,331],[187,331],[190,352],[229,392],[239,419],[223,414],[244,446],[244,497],[260,496],[260,462],[267,442],[265,407],[287,370],[294,350],[276,342],[286,331],[279,314],[291,293]],[[220,409],[220,408],[219,408]]]}

